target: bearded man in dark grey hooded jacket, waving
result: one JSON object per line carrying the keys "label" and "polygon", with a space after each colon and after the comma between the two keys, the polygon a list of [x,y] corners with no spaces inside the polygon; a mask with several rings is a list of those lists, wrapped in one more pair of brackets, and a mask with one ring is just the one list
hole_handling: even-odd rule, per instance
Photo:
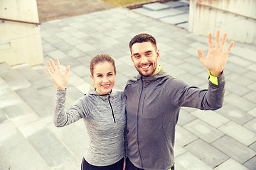
{"label": "bearded man in dark grey hooded jacket, waving", "polygon": [[198,49],[198,56],[209,70],[208,90],[189,86],[171,77],[158,64],[159,50],[154,37],[134,36],[129,42],[132,62],[139,72],[130,79],[124,92],[127,96],[127,170],[174,169],[174,136],[181,107],[216,110],[223,104],[225,79],[223,69],[228,52],[225,51],[227,33],[220,44],[217,30],[215,47],[212,33],[208,35],[206,57]]}

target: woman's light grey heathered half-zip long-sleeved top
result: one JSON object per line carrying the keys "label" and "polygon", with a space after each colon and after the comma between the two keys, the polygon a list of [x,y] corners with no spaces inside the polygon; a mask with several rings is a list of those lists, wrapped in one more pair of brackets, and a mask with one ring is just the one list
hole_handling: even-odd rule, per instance
{"label": "woman's light grey heathered half-zip long-sleeved top", "polygon": [[[57,89],[54,123],[69,125],[83,118],[90,138],[85,160],[95,166],[107,166],[124,157],[124,128],[126,125],[123,91],[100,95],[95,89],[75,101],[65,111],[66,90]],[[82,133],[82,132],[81,132]]]}

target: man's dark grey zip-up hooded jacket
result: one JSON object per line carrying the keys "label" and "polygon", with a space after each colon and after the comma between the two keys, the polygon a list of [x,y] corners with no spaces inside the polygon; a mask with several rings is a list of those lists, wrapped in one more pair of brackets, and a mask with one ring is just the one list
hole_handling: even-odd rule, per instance
{"label": "man's dark grey zip-up hooded jacket", "polygon": [[[192,77],[193,79],[193,77]],[[225,80],[209,81],[208,90],[189,86],[161,70],[153,77],[127,82],[128,158],[140,169],[167,170],[174,166],[174,136],[182,106],[215,110],[222,106]]]}

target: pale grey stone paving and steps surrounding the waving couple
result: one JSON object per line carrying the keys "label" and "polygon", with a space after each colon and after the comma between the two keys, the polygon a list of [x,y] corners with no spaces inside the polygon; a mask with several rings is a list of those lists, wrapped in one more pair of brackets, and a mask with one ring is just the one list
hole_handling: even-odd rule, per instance
{"label": "pale grey stone paving and steps surrounding the waving couple", "polygon": [[[197,47],[207,50],[207,38],[183,29],[184,19],[181,28],[179,23],[173,26],[167,22],[171,19],[162,21],[171,15],[156,18],[139,13],[157,6],[134,11],[111,8],[41,25],[45,63],[58,57],[63,66],[71,65],[67,106],[88,91],[90,59],[102,52],[114,57],[115,88],[124,89],[127,79],[137,75],[128,43],[138,33],[149,33],[158,40],[159,62],[166,72],[207,87],[207,70],[196,53]],[[256,169],[255,56],[255,46],[235,42],[225,67],[223,108],[181,109],[176,126],[176,170]],[[80,169],[87,146],[85,125],[80,120],[55,128],[55,86],[45,67],[0,64],[0,169]]]}

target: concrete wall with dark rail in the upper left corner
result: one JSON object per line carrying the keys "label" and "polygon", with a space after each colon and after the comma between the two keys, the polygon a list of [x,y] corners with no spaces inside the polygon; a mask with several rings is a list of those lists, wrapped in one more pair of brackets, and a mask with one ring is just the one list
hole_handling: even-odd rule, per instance
{"label": "concrete wall with dark rail in the upper left corner", "polygon": [[[9,65],[43,63],[36,0],[0,0],[0,62]],[[31,23],[29,23],[31,22]]]}

